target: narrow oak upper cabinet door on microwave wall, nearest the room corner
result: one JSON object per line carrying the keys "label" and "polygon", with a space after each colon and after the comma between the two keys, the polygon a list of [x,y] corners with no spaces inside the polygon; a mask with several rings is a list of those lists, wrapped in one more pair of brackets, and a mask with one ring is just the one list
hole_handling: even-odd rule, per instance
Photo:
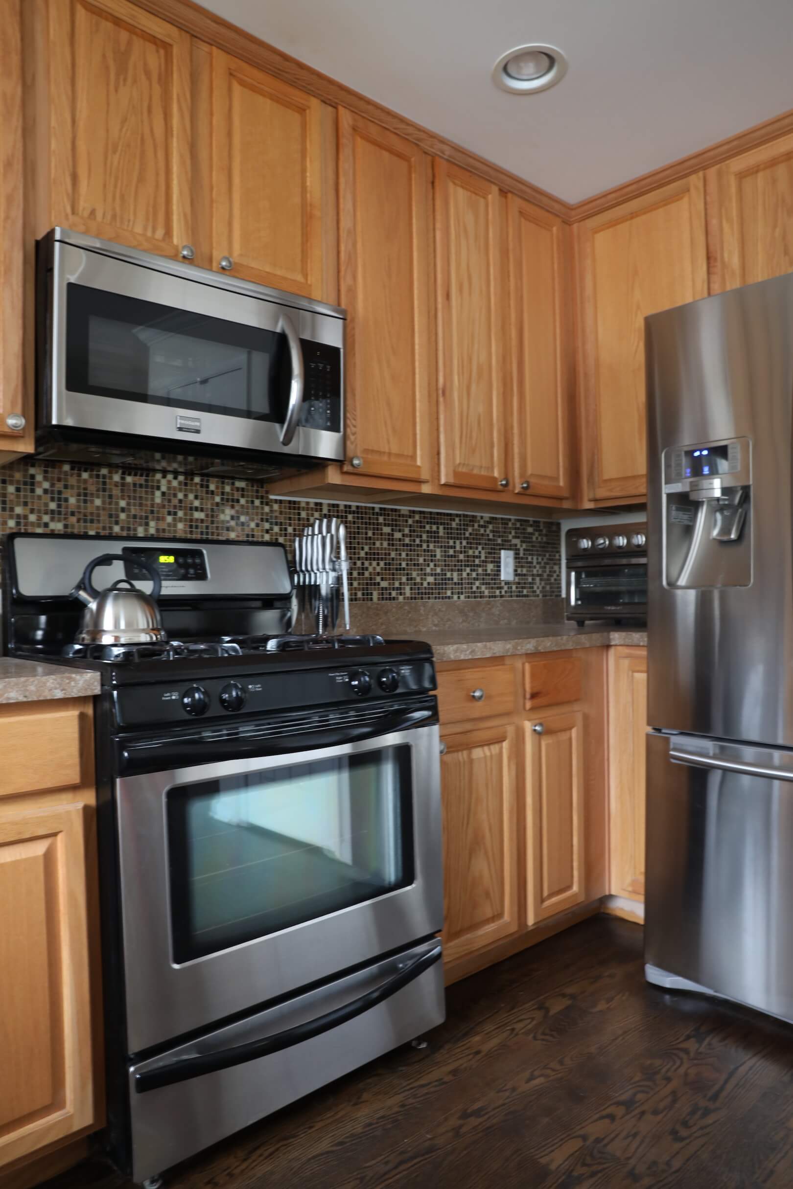
{"label": "narrow oak upper cabinet door on microwave wall, nearest the room corner", "polygon": [[[510,194],[512,491],[571,495],[572,320],[569,228]],[[523,486],[528,484],[528,486]]]}

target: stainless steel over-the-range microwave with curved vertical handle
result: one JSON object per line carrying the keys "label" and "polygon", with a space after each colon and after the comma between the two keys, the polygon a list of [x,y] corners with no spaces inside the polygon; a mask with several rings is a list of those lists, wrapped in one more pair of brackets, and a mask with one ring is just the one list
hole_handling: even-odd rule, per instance
{"label": "stainless steel over-the-range microwave with curved vertical handle", "polygon": [[56,227],[37,454],[276,477],[344,459],[345,312]]}

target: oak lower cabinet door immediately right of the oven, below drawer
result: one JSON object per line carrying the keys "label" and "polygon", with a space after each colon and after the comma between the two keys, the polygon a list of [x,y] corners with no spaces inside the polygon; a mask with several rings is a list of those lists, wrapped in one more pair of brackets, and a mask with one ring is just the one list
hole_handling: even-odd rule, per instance
{"label": "oak lower cabinet door immediately right of the oven, below drawer", "polygon": [[446,734],[443,946],[447,962],[518,929],[516,728]]}

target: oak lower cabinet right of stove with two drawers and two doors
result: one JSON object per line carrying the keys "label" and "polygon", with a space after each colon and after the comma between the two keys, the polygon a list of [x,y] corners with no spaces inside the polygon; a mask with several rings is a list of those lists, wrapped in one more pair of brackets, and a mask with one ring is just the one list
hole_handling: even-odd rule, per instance
{"label": "oak lower cabinet right of stove with two drawers and two doors", "polygon": [[609,889],[605,654],[438,667],[448,982],[597,912]]}

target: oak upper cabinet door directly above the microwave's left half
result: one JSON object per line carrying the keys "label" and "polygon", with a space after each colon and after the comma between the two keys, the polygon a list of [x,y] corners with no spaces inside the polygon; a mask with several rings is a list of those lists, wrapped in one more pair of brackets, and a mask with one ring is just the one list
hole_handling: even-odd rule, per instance
{"label": "oak upper cabinet door directly above the microwave's left half", "polygon": [[31,0],[36,233],[190,241],[190,38],[128,0]]}

